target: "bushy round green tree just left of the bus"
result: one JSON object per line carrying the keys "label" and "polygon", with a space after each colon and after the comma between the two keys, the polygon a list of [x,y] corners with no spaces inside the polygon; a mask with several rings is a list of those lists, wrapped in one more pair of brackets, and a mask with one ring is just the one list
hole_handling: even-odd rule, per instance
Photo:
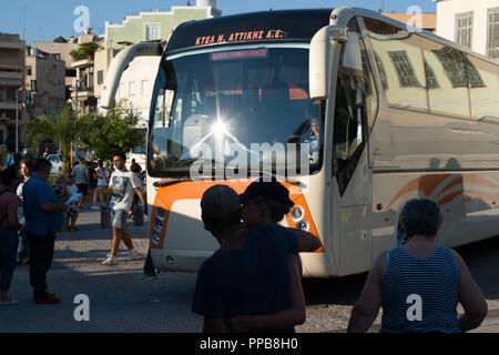
{"label": "bushy round green tree just left of the bus", "polygon": [[144,143],[138,122],[131,105],[121,100],[105,114],[95,111],[80,118],[80,139],[98,159],[109,160],[118,151],[128,153]]}

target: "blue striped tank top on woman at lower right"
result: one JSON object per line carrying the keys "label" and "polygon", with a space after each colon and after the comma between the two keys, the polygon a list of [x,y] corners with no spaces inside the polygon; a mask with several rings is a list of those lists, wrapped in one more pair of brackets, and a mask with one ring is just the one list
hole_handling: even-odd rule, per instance
{"label": "blue striped tank top on woman at lower right", "polygon": [[459,271],[452,251],[438,246],[416,257],[398,246],[387,253],[381,280],[383,333],[459,333]]}

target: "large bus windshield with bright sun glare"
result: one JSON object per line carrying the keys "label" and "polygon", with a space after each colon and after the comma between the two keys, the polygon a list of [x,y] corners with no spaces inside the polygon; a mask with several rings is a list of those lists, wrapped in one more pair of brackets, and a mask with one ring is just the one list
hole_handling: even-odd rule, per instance
{"label": "large bus windshield with bright sun glare", "polygon": [[154,90],[152,176],[203,169],[206,176],[227,166],[241,178],[255,169],[303,175],[320,168],[325,105],[309,99],[305,45],[170,57]]}

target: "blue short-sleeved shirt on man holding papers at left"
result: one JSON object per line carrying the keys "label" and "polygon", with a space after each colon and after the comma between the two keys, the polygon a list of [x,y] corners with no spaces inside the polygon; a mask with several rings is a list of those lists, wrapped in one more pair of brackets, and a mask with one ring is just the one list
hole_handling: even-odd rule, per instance
{"label": "blue short-sleeved shirt on man holding papers at left", "polygon": [[45,180],[32,175],[22,186],[23,210],[26,219],[26,232],[44,236],[49,229],[59,231],[64,224],[64,212],[44,212],[41,205],[52,202],[60,204]]}

